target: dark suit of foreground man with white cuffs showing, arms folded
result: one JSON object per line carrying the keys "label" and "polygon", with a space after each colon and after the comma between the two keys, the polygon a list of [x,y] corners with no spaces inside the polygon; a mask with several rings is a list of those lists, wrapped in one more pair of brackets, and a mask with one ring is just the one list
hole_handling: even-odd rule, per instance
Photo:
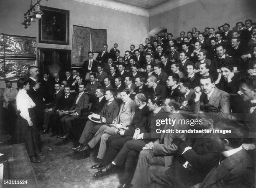
{"label": "dark suit of foreground man with white cuffs showing, arms folded", "polygon": [[[192,149],[183,153],[187,146],[192,147]],[[207,134],[188,138],[179,146],[177,153],[177,160],[165,172],[173,187],[191,187],[200,183],[222,157],[222,154],[213,148],[212,140],[207,138]],[[184,168],[183,164],[186,161],[190,165]]]}

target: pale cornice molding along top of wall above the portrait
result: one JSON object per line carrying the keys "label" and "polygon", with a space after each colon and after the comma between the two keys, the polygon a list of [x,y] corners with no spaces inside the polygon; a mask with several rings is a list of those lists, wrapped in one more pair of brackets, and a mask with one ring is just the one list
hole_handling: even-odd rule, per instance
{"label": "pale cornice molding along top of wall above the portrait", "polygon": [[105,8],[111,8],[114,10],[119,10],[125,13],[131,13],[141,16],[148,17],[148,10],[145,8],[136,7],[133,5],[128,5],[125,3],[119,3],[113,0],[76,0],[82,3],[88,3],[91,5],[101,6]]}

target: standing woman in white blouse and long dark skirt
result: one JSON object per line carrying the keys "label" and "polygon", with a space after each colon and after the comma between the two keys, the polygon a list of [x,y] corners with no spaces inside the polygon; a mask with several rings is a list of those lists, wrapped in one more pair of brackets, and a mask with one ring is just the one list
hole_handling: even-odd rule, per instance
{"label": "standing woman in white blouse and long dark skirt", "polygon": [[38,154],[41,151],[40,135],[37,130],[36,114],[33,110],[35,103],[28,96],[29,81],[27,78],[20,78],[17,82],[17,109],[20,111],[16,120],[15,141],[25,143],[31,162],[40,163]]}

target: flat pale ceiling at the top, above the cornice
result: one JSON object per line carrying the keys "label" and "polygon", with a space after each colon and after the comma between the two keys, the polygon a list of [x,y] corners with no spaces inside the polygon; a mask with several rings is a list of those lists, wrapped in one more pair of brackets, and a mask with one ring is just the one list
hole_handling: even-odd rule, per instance
{"label": "flat pale ceiling at the top, above the cornice", "polygon": [[134,5],[141,8],[150,9],[169,0],[114,0],[114,1],[129,4],[129,5]]}

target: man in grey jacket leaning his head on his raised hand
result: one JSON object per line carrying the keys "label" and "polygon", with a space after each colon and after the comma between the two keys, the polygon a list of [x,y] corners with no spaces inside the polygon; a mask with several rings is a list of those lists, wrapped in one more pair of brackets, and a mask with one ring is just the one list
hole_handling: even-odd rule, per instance
{"label": "man in grey jacket leaning his head on his raised hand", "polygon": [[230,96],[215,87],[211,76],[200,78],[200,87],[195,88],[194,112],[200,111],[202,105],[213,105],[219,110],[220,118],[228,118],[230,113]]}

